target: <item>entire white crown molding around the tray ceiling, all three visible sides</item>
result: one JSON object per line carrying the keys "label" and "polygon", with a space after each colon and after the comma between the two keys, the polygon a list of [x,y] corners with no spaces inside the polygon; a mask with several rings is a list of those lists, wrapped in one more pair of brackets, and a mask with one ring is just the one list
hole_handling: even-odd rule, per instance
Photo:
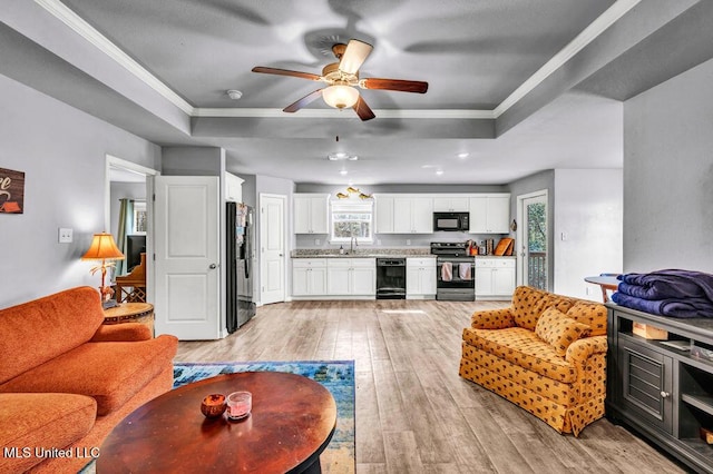
{"label": "entire white crown molding around the tray ceiling, all three visible sides", "polygon": [[[162,82],[156,76],[146,70],[143,66],[131,59],[119,47],[108,38],[97,31],[91,24],[70,10],[60,0],[35,0],[49,13],[58,18],[75,32],[80,34],[101,52],[107,55],[118,65],[131,72],[148,87],[158,92],[166,100],[178,107],[191,117],[303,117],[303,118],[353,118],[351,115],[341,115],[339,110],[305,109],[296,115],[285,115],[280,109],[241,109],[241,108],[196,108],[178,96],[167,85]],[[527,93],[540,85],[547,77],[565,65],[577,52],[589,45],[595,38],[602,34],[607,28],[614,24],[619,18],[626,14],[641,0],[617,0],[594,22],[585,28],[565,48],[547,61],[540,69],[522,82],[510,96],[508,96],[494,110],[374,110],[380,118],[436,118],[436,119],[497,119],[509,108],[515,106]]]}

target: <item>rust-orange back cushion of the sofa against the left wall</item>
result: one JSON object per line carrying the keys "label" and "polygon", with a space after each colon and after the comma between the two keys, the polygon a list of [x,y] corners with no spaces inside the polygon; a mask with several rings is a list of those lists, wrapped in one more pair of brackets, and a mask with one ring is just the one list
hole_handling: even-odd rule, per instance
{"label": "rust-orange back cushion of the sofa against the left wall", "polygon": [[88,286],[0,309],[0,384],[86,343],[102,322]]}

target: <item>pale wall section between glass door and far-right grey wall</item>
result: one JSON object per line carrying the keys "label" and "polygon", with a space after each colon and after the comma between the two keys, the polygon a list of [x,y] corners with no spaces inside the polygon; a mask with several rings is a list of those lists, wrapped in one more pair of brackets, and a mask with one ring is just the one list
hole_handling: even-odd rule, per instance
{"label": "pale wall section between glass door and far-right grey wall", "polygon": [[556,169],[553,228],[554,292],[600,300],[586,276],[623,265],[623,171]]}

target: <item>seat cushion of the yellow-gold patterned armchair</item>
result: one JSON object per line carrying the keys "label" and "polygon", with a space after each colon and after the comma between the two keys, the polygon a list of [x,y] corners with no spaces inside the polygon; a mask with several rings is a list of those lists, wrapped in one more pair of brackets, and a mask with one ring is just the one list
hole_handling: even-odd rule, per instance
{"label": "seat cushion of the yellow-gold patterned armchair", "polygon": [[507,329],[463,329],[463,340],[482,350],[533,371],[554,381],[572,383],[577,379],[575,366],[555,352],[533,330],[521,327]]}

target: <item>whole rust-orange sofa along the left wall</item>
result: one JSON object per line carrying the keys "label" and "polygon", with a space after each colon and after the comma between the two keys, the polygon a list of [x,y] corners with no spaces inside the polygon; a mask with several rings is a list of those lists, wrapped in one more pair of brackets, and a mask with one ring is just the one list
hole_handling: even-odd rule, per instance
{"label": "whole rust-orange sofa along the left wall", "polygon": [[0,309],[0,473],[77,472],[172,388],[174,336],[102,322],[90,287]]}

